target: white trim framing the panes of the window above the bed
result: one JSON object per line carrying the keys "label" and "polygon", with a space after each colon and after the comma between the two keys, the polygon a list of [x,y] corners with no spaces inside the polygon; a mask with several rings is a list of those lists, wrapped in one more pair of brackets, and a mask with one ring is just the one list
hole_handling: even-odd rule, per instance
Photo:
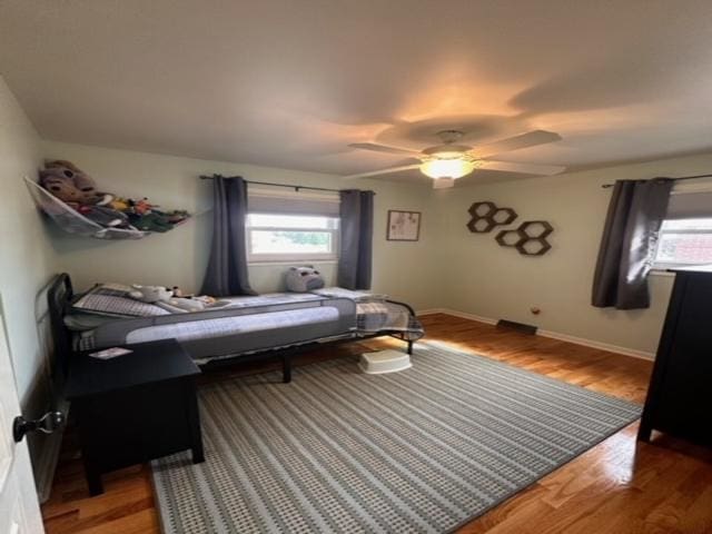
{"label": "white trim framing the panes of the window above the bed", "polygon": [[[249,216],[250,215],[274,215],[274,216],[295,216],[300,217],[295,214],[267,214],[261,211],[251,211],[247,216],[247,220],[245,221],[245,248],[247,251],[247,263],[249,265],[269,265],[269,264],[287,264],[295,261],[315,261],[315,263],[336,263],[338,261],[338,251],[339,251],[339,237],[340,237],[340,221],[338,217],[328,217],[325,215],[303,215],[304,217],[323,217],[326,219],[336,219],[337,225],[336,228],[294,228],[294,227],[284,227],[284,226],[250,226],[249,225]],[[332,235],[332,251],[330,253],[276,253],[276,254],[255,254],[251,251],[251,233],[254,230],[257,231],[318,231]]]}

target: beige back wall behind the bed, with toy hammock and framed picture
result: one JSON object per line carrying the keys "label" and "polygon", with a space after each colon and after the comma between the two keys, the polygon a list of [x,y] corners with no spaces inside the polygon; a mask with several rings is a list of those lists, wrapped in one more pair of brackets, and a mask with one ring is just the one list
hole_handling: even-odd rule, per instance
{"label": "beige back wall behind the bed, with toy hammock and framed picture", "polygon": [[[162,235],[141,240],[101,241],[77,238],[52,231],[53,246],[61,269],[71,274],[79,287],[95,281],[115,280],[157,285],[179,285],[188,290],[200,286],[207,264],[211,235],[211,186],[200,175],[240,175],[250,180],[298,184],[329,188],[358,187],[376,191],[374,235],[374,290],[387,291],[417,308],[439,306],[439,293],[433,277],[437,236],[434,234],[436,214],[431,190],[385,181],[343,181],[339,177],[300,172],[249,165],[207,161],[160,156],[127,150],[68,145],[46,141],[47,158],[73,161],[91,175],[100,188],[131,196],[149,197],[165,207],[186,208],[202,212],[195,219]],[[386,241],[388,209],[423,211],[421,240],[417,243]],[[329,281],[334,281],[335,264],[319,265]],[[258,291],[281,287],[286,265],[250,266],[250,281]]]}

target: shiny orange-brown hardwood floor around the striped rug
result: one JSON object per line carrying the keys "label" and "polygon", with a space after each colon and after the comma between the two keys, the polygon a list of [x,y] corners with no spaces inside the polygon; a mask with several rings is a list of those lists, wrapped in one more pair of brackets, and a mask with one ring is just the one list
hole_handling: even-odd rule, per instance
{"label": "shiny orange-brown hardwood floor around the striped rug", "polygon": [[[423,317],[423,323],[427,340],[637,403],[644,400],[652,367],[649,362],[442,314]],[[389,342],[364,345],[384,344]],[[339,355],[358,352],[356,344],[337,350]],[[300,363],[333,356],[334,349],[310,353]],[[206,379],[229,379],[259,368],[243,367]],[[458,532],[712,533],[712,452],[665,436],[639,444],[636,429],[637,423],[630,425]],[[73,434],[68,432],[51,498],[42,506],[47,532],[159,532],[148,467],[107,475],[105,486],[103,495],[89,498]]]}

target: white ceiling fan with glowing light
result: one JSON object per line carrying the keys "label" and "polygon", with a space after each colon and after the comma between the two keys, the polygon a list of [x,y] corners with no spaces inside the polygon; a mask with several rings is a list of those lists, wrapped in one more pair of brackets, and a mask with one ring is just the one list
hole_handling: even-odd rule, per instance
{"label": "white ceiling fan with glowing light", "polygon": [[521,148],[535,147],[561,140],[561,136],[553,131],[533,130],[520,136],[495,141],[491,145],[471,147],[458,145],[465,134],[459,130],[442,130],[436,134],[441,145],[428,147],[422,151],[407,148],[388,147],[375,142],[355,142],[353,148],[373,150],[376,152],[402,154],[417,158],[421,161],[412,165],[390,167],[388,169],[373,170],[345,178],[367,178],[370,176],[387,175],[402,170],[421,169],[425,176],[433,178],[435,189],[453,187],[457,178],[467,176],[475,169],[502,170],[508,172],[525,172],[528,175],[556,175],[566,169],[560,165],[517,164],[513,161],[500,161],[497,156]]}

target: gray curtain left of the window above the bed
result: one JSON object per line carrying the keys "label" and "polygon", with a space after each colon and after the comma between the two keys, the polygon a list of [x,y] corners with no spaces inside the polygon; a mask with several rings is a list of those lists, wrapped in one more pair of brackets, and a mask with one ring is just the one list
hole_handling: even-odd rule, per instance
{"label": "gray curtain left of the window above the bed", "polygon": [[200,291],[216,297],[257,295],[249,287],[247,273],[247,184],[238,176],[225,178],[215,175],[212,187],[212,248]]}

